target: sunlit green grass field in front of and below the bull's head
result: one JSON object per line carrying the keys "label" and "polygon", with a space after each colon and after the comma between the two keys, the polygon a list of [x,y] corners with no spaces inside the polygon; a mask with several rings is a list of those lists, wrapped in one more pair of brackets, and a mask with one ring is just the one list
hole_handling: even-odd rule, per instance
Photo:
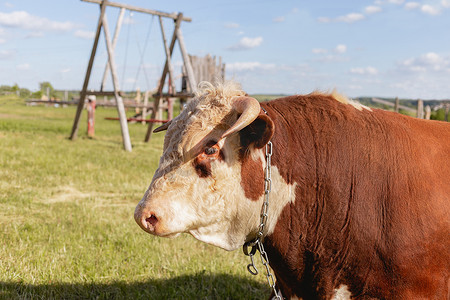
{"label": "sunlit green grass field in front of and below the bull's head", "polygon": [[146,126],[129,124],[127,153],[119,123],[104,120],[116,110],[98,108],[96,137],[84,111],[70,141],[74,115],[0,98],[0,299],[268,298],[240,250],[156,238],[134,222],[164,134],[147,144]]}

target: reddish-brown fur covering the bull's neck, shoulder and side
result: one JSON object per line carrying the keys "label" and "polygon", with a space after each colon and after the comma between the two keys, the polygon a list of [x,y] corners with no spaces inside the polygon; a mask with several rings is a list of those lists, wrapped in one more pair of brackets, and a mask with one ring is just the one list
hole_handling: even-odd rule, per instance
{"label": "reddish-brown fur covering the bull's neck, shoulder and side", "polygon": [[450,124],[322,94],[262,106],[272,164],[297,183],[265,239],[283,295],[330,298],[345,284],[359,299],[448,297]]}

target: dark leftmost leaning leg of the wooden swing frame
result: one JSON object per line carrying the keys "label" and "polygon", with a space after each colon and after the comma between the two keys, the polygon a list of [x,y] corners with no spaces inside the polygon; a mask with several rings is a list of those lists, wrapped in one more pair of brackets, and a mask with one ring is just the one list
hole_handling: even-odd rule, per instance
{"label": "dark leftmost leaning leg of the wooden swing frame", "polygon": [[95,53],[97,52],[98,40],[100,38],[100,32],[102,29],[103,16],[105,15],[106,3],[108,0],[103,0],[100,3],[100,17],[98,18],[97,31],[95,32],[94,45],[92,46],[91,57],[89,58],[88,68],[86,70],[86,76],[84,77],[83,88],[80,92],[80,101],[78,101],[77,112],[75,114],[75,119],[73,120],[72,132],[70,134],[70,139],[75,140],[78,134],[78,127],[80,124],[81,111],[84,107],[84,100],[86,99],[86,90],[89,84],[89,78],[91,77],[92,66],[94,64]]}

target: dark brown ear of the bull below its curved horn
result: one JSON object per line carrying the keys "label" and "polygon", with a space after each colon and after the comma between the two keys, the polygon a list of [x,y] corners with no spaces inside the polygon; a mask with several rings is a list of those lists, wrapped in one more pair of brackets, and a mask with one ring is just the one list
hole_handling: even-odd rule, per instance
{"label": "dark brown ear of the bull below its curved horn", "polygon": [[263,148],[272,138],[274,130],[272,119],[261,112],[256,120],[239,132],[242,148],[248,149],[250,146],[256,149]]}

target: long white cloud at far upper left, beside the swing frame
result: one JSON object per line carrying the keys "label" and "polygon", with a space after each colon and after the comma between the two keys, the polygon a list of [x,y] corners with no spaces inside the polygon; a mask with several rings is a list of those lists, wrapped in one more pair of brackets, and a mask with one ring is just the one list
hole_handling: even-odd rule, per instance
{"label": "long white cloud at far upper left, beside the swing frame", "polygon": [[30,15],[26,11],[0,12],[0,25],[38,31],[69,31],[76,27],[71,22],[51,21],[47,18]]}

